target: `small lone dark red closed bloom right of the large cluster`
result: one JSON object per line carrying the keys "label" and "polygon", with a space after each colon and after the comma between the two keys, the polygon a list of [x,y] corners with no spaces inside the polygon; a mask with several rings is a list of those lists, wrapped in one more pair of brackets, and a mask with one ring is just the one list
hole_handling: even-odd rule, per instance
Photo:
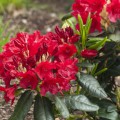
{"label": "small lone dark red closed bloom right of the large cluster", "polygon": [[88,49],[85,49],[85,50],[81,51],[81,56],[84,57],[84,58],[87,58],[87,59],[94,58],[97,55],[98,55],[97,50],[88,50]]}

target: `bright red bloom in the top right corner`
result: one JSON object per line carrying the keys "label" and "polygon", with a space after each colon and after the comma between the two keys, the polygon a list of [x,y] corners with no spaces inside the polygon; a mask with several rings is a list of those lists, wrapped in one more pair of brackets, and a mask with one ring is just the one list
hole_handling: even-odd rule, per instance
{"label": "bright red bloom in the top right corner", "polygon": [[107,5],[107,12],[111,22],[116,22],[120,19],[120,0],[111,0]]}

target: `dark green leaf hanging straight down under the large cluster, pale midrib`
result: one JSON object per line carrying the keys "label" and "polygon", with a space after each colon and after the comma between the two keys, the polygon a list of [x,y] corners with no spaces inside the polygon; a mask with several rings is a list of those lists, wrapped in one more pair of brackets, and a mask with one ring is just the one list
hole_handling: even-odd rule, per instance
{"label": "dark green leaf hanging straight down under the large cluster, pale midrib", "polygon": [[52,103],[46,97],[37,95],[34,105],[34,120],[54,120]]}

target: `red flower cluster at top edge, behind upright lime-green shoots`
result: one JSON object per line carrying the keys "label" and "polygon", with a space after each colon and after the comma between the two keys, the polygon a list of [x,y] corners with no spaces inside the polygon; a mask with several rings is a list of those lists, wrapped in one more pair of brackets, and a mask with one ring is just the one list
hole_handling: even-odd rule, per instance
{"label": "red flower cluster at top edge, behind upright lime-green shoots", "polygon": [[94,32],[95,30],[101,31],[100,13],[102,12],[105,4],[106,0],[75,0],[75,3],[72,6],[72,15],[78,18],[79,14],[85,24],[88,15],[91,14],[91,32]]}

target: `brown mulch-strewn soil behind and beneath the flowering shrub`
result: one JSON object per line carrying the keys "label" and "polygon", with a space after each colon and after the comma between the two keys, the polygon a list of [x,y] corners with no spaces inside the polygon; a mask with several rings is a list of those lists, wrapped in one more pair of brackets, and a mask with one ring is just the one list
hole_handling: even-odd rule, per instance
{"label": "brown mulch-strewn soil behind and beneath the flowering shrub", "polygon": [[[70,0],[33,0],[33,5],[26,9],[13,10],[13,6],[9,6],[3,15],[4,23],[10,21],[7,32],[13,36],[20,31],[40,30],[42,34],[53,31],[56,25],[61,24],[61,18],[68,12],[70,4]],[[8,103],[3,104],[3,94],[0,93],[0,120],[9,119],[16,102],[17,100],[12,106]],[[33,107],[25,120],[34,120],[32,112]]]}

